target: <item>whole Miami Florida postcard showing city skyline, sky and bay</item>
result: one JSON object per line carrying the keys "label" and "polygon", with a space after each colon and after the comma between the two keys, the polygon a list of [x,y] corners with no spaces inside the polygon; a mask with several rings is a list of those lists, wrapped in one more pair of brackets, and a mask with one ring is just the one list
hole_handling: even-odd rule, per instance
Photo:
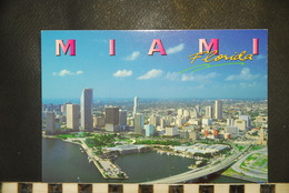
{"label": "whole Miami Florida postcard showing city skyline, sky and bay", "polygon": [[266,30],[42,31],[42,181],[268,181]]}

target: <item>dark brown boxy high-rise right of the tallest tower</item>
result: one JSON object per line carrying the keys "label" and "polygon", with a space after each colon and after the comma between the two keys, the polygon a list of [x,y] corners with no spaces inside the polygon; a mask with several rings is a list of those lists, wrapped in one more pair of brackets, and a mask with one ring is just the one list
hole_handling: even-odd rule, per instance
{"label": "dark brown boxy high-rise right of the tallest tower", "polygon": [[106,130],[116,131],[117,125],[119,125],[119,108],[106,106]]}

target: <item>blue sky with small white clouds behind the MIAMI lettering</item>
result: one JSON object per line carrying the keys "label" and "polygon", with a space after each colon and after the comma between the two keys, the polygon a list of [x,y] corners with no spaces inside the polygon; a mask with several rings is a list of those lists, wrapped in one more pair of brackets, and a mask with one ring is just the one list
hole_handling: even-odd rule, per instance
{"label": "blue sky with small white clouds behind the MIAMI lettering", "polygon": [[[259,54],[241,61],[191,72],[189,55],[199,52],[199,39],[219,39],[219,54],[252,53],[259,39]],[[76,55],[56,55],[56,40],[76,40]],[[109,40],[116,40],[116,55]],[[161,39],[167,55],[148,52],[153,39]],[[156,47],[158,48],[158,47]],[[208,63],[207,63],[208,64]],[[175,31],[42,31],[42,99],[77,99],[86,88],[93,98],[191,98],[267,99],[267,30]]]}

